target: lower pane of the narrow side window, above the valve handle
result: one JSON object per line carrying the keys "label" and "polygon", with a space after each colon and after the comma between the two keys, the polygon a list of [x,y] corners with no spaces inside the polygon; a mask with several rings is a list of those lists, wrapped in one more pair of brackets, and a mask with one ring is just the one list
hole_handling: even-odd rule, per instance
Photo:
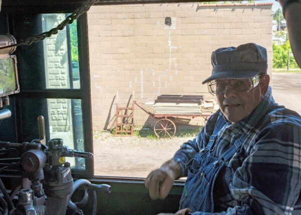
{"label": "lower pane of the narrow side window, above the valve handle", "polygon": [[[84,152],[81,100],[48,99],[50,138],[62,138],[70,149]],[[85,159],[66,157],[72,168],[84,170]]]}

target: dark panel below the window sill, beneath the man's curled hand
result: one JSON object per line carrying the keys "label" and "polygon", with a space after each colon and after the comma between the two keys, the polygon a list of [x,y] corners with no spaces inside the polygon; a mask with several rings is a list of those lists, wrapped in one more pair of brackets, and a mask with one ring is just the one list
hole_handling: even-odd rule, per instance
{"label": "dark panel below the window sill, beneath the man's curled hand", "polygon": [[[95,184],[109,184],[110,193],[97,192],[97,214],[143,214],[154,215],[160,212],[175,213],[179,209],[179,202],[184,183],[175,183],[170,194],[164,200],[152,200],[143,180],[90,180]],[[80,199],[75,193],[74,198]],[[91,206],[91,205],[87,205]],[[89,214],[90,208],[84,212]]]}

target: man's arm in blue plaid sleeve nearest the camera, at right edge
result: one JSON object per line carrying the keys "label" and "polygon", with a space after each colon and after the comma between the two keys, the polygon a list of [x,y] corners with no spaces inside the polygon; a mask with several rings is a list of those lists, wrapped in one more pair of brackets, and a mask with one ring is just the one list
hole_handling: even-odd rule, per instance
{"label": "man's arm in blue plaid sleeve nearest the camera, at right edge", "polygon": [[291,214],[301,192],[301,123],[277,123],[260,131],[234,173],[230,191],[239,205],[193,215]]}

